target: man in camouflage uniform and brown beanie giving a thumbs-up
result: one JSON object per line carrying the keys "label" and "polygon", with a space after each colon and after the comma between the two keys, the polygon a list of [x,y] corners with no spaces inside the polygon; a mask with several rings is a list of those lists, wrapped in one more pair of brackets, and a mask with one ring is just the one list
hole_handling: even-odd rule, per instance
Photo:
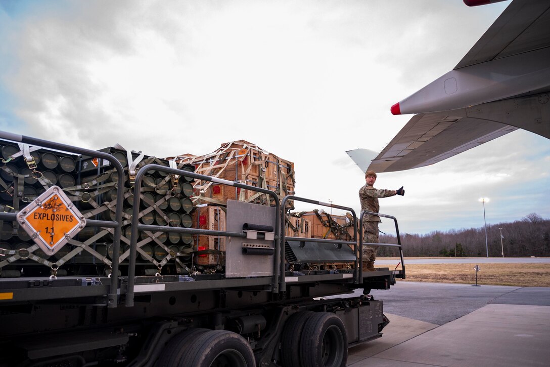
{"label": "man in camouflage uniform and brown beanie giving a thumbs-up", "polygon": [[[361,212],[368,211],[378,213],[380,206],[378,204],[379,197],[389,197],[394,195],[405,195],[403,187],[399,190],[377,190],[373,187],[376,181],[376,172],[367,171],[365,173],[365,186],[359,190],[359,200],[361,202]],[[365,214],[363,217],[363,242],[371,244],[378,243],[378,223],[380,217],[378,215]],[[363,271],[376,271],[374,264],[376,260],[376,252],[378,246],[363,246]]]}

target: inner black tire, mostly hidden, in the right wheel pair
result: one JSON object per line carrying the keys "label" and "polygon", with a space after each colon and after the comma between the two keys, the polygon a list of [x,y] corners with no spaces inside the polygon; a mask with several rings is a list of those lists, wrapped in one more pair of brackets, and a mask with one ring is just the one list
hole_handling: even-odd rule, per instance
{"label": "inner black tire, mostly hidden, in the right wheel pair", "polygon": [[281,334],[281,362],[284,367],[301,367],[300,362],[300,339],[304,325],[313,311],[300,311],[290,316],[284,324]]}

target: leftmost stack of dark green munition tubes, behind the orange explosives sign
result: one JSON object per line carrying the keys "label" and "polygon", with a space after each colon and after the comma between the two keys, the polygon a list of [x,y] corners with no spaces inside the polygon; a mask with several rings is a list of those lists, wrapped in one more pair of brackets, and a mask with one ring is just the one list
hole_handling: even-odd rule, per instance
{"label": "leftmost stack of dark green munition tubes, behind the orange explosives sign", "polygon": [[[7,141],[0,141],[0,150],[0,210],[3,212],[19,212],[51,186],[63,189],[75,186],[78,155]],[[16,253],[16,256],[0,257],[0,273],[3,277],[18,277],[25,273],[50,275],[50,269],[44,263],[58,261],[61,254],[47,256],[34,246],[31,237],[15,220],[0,220],[0,228],[0,249],[23,250],[21,253],[29,255]],[[28,252],[25,251],[27,249]],[[43,261],[33,261],[30,255]]]}

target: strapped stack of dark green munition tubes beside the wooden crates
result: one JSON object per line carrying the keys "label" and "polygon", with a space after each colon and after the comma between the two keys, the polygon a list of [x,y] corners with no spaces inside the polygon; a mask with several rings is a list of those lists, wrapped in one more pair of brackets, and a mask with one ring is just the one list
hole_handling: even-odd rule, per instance
{"label": "strapped stack of dark green munition tubes beside the wooden crates", "polygon": [[[80,182],[87,184],[81,208],[85,217],[99,220],[115,220],[117,195],[123,195],[122,234],[119,249],[119,269],[127,271],[131,240],[131,218],[134,211],[133,178],[129,175],[129,167],[134,165],[136,171],[146,164],[169,166],[169,162],[153,156],[141,156],[116,148],[105,148],[103,152],[112,154],[122,164],[125,172],[124,187],[117,190],[117,171],[108,162],[95,160],[94,157],[83,157],[80,161]],[[93,163],[90,163],[93,161]],[[136,163],[137,162],[137,163]],[[194,171],[194,166],[180,165],[178,168]],[[189,228],[193,224],[191,211],[193,202],[193,179],[176,177],[162,170],[148,171],[143,176],[140,190],[140,208],[138,222],[147,225]],[[86,195],[90,193],[90,195]],[[79,241],[94,246],[97,253],[105,259],[83,252],[75,257],[80,267],[109,265],[113,260],[114,229],[85,228],[79,234]],[[188,273],[191,265],[193,237],[190,234],[164,231],[138,231],[136,274],[155,275]],[[91,242],[93,240],[93,242]],[[106,269],[108,272],[108,269]]]}

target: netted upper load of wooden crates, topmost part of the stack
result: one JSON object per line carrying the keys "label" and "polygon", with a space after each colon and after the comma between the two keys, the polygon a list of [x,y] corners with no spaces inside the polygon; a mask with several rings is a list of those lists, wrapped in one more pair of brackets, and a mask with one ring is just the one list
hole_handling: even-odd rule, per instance
{"label": "netted upper load of wooden crates, topmost part of the stack", "polygon": [[[244,140],[224,143],[210,154],[181,154],[174,159],[178,163],[194,165],[198,174],[272,190],[279,199],[294,195],[294,163]],[[210,181],[197,180],[194,188],[193,201],[196,204],[224,206],[228,199],[273,204],[265,194]],[[293,209],[292,201],[288,205]]]}

